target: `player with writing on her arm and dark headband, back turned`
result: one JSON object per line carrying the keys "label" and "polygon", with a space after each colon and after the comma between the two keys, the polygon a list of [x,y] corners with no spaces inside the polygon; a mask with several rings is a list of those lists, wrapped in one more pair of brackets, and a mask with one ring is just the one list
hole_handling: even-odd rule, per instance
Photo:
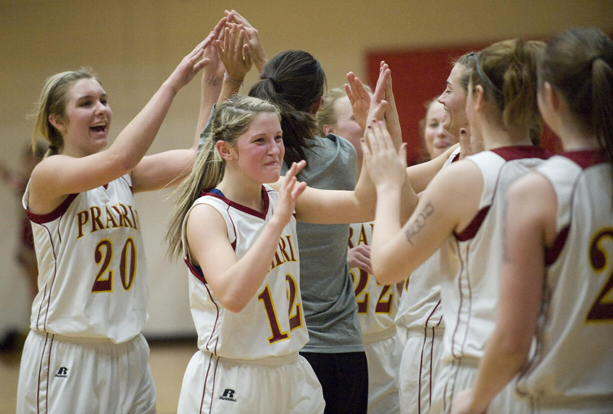
{"label": "player with writing on her arm and dark headband, back turned", "polygon": [[[443,247],[443,366],[433,390],[432,412],[449,412],[454,392],[476,375],[497,308],[504,191],[546,158],[542,149],[531,145],[531,132],[541,123],[536,60],[542,50],[542,42],[514,39],[494,43],[476,55],[466,117],[473,152],[487,151],[443,168],[402,228],[395,184],[400,161],[390,161],[393,157],[386,154],[394,151],[388,143],[371,142],[371,150],[363,145],[378,197],[371,265],[379,282],[403,280]],[[493,412],[509,412],[511,400],[508,393],[501,394]]]}

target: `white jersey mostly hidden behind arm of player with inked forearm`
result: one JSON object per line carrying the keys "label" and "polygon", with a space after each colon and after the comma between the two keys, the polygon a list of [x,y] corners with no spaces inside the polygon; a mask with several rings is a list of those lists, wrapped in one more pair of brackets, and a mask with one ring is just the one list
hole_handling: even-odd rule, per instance
{"label": "white jersey mostly hidden behind arm of player with inked forearm", "polygon": [[[460,147],[451,153],[441,170],[458,160],[459,156]],[[397,325],[407,329],[433,326],[442,328],[444,323],[440,283],[440,253],[436,250],[405,280],[396,314]]]}

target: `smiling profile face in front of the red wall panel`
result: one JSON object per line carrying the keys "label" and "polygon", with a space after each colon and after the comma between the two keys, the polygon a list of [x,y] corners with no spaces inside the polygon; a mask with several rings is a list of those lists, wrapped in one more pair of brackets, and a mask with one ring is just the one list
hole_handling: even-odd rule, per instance
{"label": "smiling profile face in front of the red wall panel", "polygon": [[449,78],[447,78],[447,88],[438,97],[438,102],[442,103],[445,108],[443,127],[456,137],[460,135],[460,128],[468,127],[465,113],[466,91],[462,87],[461,81],[466,70],[468,69],[463,64],[455,64],[451,73],[449,73]]}

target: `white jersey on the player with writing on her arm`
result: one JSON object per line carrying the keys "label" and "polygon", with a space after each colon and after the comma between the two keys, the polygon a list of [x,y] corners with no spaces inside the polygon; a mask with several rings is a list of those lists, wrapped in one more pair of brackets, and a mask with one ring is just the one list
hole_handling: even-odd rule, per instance
{"label": "white jersey on the player with writing on her arm", "polygon": [[509,146],[466,157],[481,170],[479,212],[462,233],[441,247],[443,359],[482,358],[493,332],[503,256],[504,193],[511,183],[546,159],[535,146]]}

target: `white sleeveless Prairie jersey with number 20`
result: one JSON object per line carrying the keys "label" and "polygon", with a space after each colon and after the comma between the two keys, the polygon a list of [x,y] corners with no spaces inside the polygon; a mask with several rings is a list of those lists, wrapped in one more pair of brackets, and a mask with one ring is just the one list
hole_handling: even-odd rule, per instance
{"label": "white sleeveless Prairie jersey with number 20", "polygon": [[125,342],[147,322],[147,268],[129,175],[28,211],[39,267],[30,328]]}

